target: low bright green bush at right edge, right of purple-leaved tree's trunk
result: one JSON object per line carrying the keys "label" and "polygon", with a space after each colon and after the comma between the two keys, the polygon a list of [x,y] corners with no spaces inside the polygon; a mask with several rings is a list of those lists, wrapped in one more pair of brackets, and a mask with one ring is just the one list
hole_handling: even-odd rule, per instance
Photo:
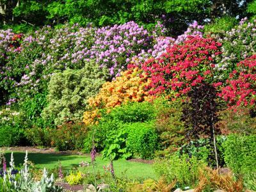
{"label": "low bright green bush at right edge, right of purple-leaved tree's trunk", "polygon": [[224,158],[235,173],[251,173],[256,170],[256,136],[231,134],[224,143]]}

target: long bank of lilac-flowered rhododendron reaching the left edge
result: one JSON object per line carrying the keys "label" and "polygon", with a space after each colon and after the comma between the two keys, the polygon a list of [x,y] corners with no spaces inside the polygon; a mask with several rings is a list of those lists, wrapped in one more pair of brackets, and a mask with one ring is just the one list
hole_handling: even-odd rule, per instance
{"label": "long bank of lilac-flowered rhododendron reaching the left edge", "polygon": [[[182,42],[188,35],[200,35],[201,28],[198,24],[191,25],[176,42]],[[47,90],[55,72],[81,69],[92,60],[100,68],[108,68],[109,79],[120,76],[131,61],[138,64],[159,57],[175,42],[163,33],[159,24],[150,34],[135,22],[104,28],[80,28],[77,24],[60,29],[45,26],[27,35],[0,31],[0,49],[4,49],[1,57],[4,65],[0,65],[0,93],[4,98],[0,97],[0,102],[9,104],[31,98]]]}

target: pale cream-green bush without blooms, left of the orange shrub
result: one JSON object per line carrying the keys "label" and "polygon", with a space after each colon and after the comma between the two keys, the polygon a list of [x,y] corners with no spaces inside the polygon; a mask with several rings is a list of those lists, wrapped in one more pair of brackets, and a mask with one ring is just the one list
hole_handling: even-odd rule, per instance
{"label": "pale cream-green bush without blooms, left of the orange shrub", "polygon": [[42,111],[44,119],[54,124],[81,120],[87,100],[99,92],[108,72],[95,63],[86,63],[81,70],[65,70],[54,74],[48,86],[49,104]]}

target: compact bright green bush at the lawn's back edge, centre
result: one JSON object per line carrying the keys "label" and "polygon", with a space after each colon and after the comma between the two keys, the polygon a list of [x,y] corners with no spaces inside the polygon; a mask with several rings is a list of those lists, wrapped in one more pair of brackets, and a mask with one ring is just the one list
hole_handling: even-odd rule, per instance
{"label": "compact bright green bush at the lawn's back edge, centre", "polygon": [[158,136],[154,129],[154,123],[133,123],[124,125],[128,132],[127,148],[134,157],[150,159],[158,146]]}

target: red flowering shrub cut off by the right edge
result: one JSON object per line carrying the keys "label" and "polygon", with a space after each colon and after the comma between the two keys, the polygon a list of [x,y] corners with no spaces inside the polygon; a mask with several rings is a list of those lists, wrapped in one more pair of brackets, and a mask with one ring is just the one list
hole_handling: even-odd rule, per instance
{"label": "red flowering shrub cut off by the right edge", "polygon": [[256,55],[237,63],[237,67],[239,71],[230,74],[220,96],[229,106],[253,106],[256,99]]}

